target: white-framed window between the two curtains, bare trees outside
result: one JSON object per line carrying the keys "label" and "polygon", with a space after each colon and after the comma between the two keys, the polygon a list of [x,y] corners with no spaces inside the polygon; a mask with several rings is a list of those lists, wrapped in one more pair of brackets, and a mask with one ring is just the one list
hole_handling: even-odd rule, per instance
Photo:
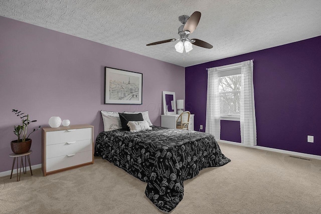
{"label": "white-framed window between the two curtains, bare trees outside", "polygon": [[240,120],[241,66],[218,67],[220,116],[223,120]]}

